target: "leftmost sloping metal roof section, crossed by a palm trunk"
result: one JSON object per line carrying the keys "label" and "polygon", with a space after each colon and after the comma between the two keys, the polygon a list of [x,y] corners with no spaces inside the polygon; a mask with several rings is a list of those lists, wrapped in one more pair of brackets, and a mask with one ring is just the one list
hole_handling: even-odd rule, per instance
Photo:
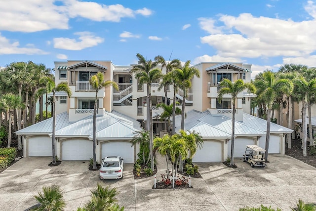
{"label": "leftmost sloping metal roof section, crossed by a palm trunk", "polygon": [[[18,135],[32,135],[32,134],[49,134],[53,131],[53,118],[41,121],[29,127],[25,127],[16,131]],[[56,116],[56,131],[69,126],[69,115],[67,112],[61,113]]]}

